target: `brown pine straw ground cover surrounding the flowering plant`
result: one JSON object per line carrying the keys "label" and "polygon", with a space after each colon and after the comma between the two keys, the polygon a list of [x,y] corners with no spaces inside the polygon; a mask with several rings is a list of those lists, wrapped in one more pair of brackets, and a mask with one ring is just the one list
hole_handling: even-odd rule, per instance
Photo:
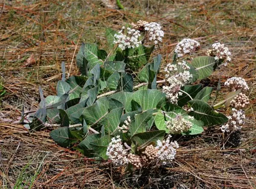
{"label": "brown pine straw ground cover surrounding the flowering plant", "polygon": [[[254,0],[130,0],[126,10],[101,1],[4,1],[0,4],[0,186],[2,188],[255,188],[256,187],[256,2]],[[79,74],[75,55],[82,41],[105,47],[105,27],[157,21],[165,31],[155,53],[168,60],[177,41],[190,37],[202,46],[227,44],[232,64],[204,82],[216,88],[227,78],[250,83],[247,121],[240,132],[222,138],[220,129],[176,138],[180,144],[172,166],[124,173],[109,162],[97,164],[79,152],[55,145],[50,130],[29,133],[10,123],[38,107],[38,86],[55,94],[61,62]],[[164,67],[164,63],[162,65]],[[159,77],[159,80],[162,78]],[[221,89],[225,94],[225,89]],[[214,94],[212,94],[214,95]],[[223,95],[219,95],[221,99]]]}

